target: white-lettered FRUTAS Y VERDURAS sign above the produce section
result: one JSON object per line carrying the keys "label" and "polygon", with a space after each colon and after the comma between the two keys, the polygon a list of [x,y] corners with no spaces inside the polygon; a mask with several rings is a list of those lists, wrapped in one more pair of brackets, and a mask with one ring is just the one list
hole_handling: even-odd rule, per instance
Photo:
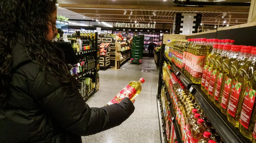
{"label": "white-lettered FRUTAS Y VERDURAS sign above the produce section", "polygon": [[116,27],[122,27],[122,28],[149,28],[149,29],[155,29],[155,28],[156,28],[156,24],[116,23]]}

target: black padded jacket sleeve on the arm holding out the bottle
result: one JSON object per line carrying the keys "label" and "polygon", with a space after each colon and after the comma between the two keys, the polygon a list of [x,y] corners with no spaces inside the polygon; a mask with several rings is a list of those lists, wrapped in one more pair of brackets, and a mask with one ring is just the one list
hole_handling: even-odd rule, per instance
{"label": "black padded jacket sleeve on the arm holding out the bottle", "polygon": [[55,77],[47,76],[50,85],[39,73],[34,83],[33,96],[42,109],[68,132],[79,136],[96,134],[120,125],[134,111],[129,98],[119,104],[90,108],[78,89],[73,89],[71,84],[61,86]]}

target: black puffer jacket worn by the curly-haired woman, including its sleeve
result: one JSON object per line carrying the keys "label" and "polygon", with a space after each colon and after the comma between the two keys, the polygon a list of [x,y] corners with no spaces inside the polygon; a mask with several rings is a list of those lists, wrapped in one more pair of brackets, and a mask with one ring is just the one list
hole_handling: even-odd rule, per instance
{"label": "black puffer jacket worn by the curly-haired woman, including its sleeve", "polygon": [[11,94],[6,104],[0,102],[0,143],[82,143],[81,136],[118,126],[134,111],[129,98],[90,108],[71,85],[51,75],[46,75],[47,84],[19,43],[12,57]]}

